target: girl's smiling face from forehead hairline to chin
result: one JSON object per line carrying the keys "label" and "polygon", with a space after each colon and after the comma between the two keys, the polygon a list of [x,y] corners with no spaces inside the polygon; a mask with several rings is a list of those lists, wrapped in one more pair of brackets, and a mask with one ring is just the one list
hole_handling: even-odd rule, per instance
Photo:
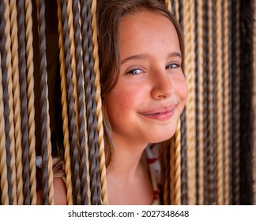
{"label": "girl's smiling face from forehead hairline to chin", "polygon": [[130,148],[168,140],[186,102],[175,26],[142,10],[120,23],[119,81],[106,99],[115,144]]}

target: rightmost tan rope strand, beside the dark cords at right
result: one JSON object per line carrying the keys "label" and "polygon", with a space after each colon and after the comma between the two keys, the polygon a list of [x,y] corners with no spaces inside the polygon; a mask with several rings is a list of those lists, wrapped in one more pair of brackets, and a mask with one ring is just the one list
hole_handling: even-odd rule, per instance
{"label": "rightmost tan rope strand, beside the dark cords at right", "polygon": [[229,20],[229,4],[228,1],[224,1],[224,204],[229,204],[229,185],[230,185],[230,153],[229,153],[229,32],[228,32],[228,20]]}

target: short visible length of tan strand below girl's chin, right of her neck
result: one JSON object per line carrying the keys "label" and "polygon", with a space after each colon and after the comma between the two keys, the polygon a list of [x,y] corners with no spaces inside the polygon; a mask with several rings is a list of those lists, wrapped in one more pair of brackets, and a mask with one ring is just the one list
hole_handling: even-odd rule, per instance
{"label": "short visible length of tan strand below girl's chin, right of her neck", "polygon": [[175,205],[181,204],[181,134],[180,134],[180,120],[178,120],[175,131]]}

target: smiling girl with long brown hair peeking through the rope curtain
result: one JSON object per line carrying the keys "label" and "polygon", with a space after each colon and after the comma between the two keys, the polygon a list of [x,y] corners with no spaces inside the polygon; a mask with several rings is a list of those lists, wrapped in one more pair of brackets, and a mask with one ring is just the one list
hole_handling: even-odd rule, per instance
{"label": "smiling girl with long brown hair peeking through the rope curtain", "polygon": [[186,103],[179,24],[161,0],[99,0],[97,25],[109,204],[160,204],[160,149]]}

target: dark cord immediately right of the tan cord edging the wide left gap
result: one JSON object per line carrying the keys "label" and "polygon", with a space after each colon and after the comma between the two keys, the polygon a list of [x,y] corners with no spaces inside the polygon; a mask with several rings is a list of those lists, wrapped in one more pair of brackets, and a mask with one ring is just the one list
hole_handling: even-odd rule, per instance
{"label": "dark cord immediately right of the tan cord edging the wide left gap", "polygon": [[[64,39],[64,56],[65,56],[65,73],[66,73],[66,88],[67,88],[67,100],[69,107],[69,124],[70,124],[70,155],[71,155],[71,169],[73,180],[73,204],[81,204],[80,193],[80,178],[79,178],[79,164],[77,160],[77,129],[76,129],[76,114],[74,110],[74,98],[73,98],[73,82],[71,71],[71,57],[70,57],[70,36],[68,32],[68,20],[66,1],[61,1],[62,8],[62,32]],[[62,82],[63,83],[63,82]],[[63,85],[64,87],[64,85]]]}

